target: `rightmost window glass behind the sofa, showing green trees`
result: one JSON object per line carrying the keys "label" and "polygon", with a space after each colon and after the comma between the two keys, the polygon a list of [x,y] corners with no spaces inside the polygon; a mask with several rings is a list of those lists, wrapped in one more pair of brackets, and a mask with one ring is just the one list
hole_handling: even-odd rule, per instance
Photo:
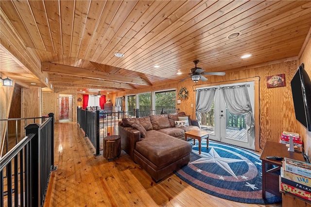
{"label": "rightmost window glass behind the sofa, showing green trees", "polygon": [[160,114],[162,110],[167,113],[175,113],[176,91],[164,91],[155,93],[155,114]]}

